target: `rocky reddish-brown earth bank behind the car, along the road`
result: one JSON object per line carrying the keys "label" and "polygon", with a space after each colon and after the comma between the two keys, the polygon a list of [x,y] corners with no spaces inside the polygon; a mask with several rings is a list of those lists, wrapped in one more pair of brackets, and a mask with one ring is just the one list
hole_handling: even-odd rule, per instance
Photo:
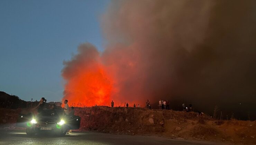
{"label": "rocky reddish-brown earth bank behind the car, along the road", "polygon": [[[28,110],[0,108],[1,128],[20,129],[15,127],[20,112]],[[256,121],[219,121],[194,112],[105,106],[75,108],[75,115],[81,117],[79,131],[256,144]]]}

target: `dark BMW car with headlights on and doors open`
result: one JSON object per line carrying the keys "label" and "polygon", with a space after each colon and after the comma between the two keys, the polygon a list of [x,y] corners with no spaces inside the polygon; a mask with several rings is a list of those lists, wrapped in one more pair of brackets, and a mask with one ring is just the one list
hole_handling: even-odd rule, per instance
{"label": "dark BMW car with headlights on and doors open", "polygon": [[16,126],[26,127],[27,135],[52,133],[63,136],[70,129],[79,129],[80,120],[79,116],[64,115],[63,109],[43,109],[36,116],[19,114]]}

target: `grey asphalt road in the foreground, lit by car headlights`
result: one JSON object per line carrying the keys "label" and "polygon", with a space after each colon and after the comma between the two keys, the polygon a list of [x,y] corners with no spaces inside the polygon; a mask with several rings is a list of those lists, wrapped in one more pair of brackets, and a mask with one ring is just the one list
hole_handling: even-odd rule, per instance
{"label": "grey asphalt road in the foreground, lit by car headlights", "polygon": [[97,132],[66,134],[64,137],[36,135],[25,131],[0,131],[0,145],[213,145],[219,143],[167,139],[155,136],[113,135]]}

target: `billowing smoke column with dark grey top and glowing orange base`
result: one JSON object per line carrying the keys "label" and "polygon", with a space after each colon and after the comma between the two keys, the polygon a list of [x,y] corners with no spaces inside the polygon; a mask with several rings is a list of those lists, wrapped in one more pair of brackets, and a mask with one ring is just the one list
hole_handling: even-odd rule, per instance
{"label": "billowing smoke column with dark grey top and glowing orange base", "polygon": [[64,62],[64,98],[70,106],[106,105],[110,102],[112,80],[100,63],[99,52],[90,44],[79,47],[79,54]]}

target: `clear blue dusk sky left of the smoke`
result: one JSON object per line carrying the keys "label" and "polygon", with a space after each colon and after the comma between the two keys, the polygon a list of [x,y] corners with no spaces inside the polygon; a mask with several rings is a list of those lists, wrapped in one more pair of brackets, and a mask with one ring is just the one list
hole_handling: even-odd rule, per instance
{"label": "clear blue dusk sky left of the smoke", "polygon": [[60,101],[63,61],[84,42],[103,50],[100,16],[109,0],[1,0],[0,91]]}

